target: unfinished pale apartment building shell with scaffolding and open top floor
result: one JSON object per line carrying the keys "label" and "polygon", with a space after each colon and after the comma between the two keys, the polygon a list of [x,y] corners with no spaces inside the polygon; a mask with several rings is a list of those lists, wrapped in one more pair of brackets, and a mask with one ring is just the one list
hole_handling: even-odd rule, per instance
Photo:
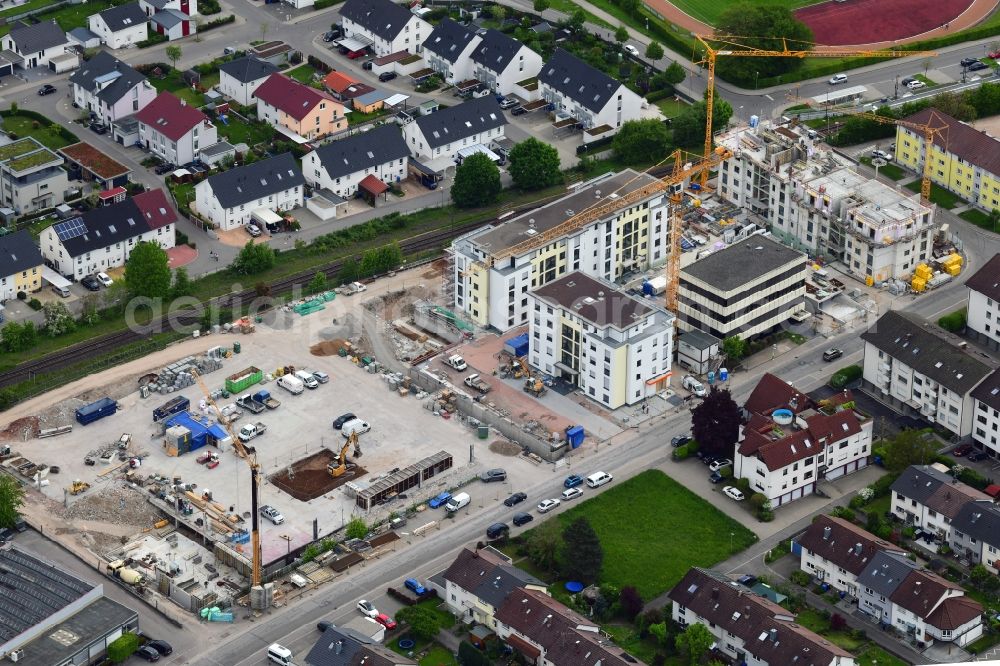
{"label": "unfinished pale apartment building shell with scaffolding and open top floor", "polygon": [[720,143],[734,158],[719,169],[719,195],[762,216],[783,243],[845,264],[874,282],[908,279],[930,259],[933,209],[856,171],[786,127],[740,129]]}

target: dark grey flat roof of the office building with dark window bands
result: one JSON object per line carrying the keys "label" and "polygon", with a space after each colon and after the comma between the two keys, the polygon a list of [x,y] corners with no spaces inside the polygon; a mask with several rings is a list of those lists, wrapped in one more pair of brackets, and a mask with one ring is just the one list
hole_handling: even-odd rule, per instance
{"label": "dark grey flat roof of the office building with dark window bands", "polygon": [[796,261],[804,266],[805,259],[801,252],[758,234],[681,268],[681,274],[732,291]]}

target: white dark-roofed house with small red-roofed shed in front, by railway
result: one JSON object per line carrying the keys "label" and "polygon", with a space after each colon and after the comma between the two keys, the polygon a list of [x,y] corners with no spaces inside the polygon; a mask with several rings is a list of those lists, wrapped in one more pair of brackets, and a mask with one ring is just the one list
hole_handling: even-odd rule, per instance
{"label": "white dark-roofed house with small red-roofed shed in front, by railway", "polygon": [[320,146],[302,158],[302,173],[312,187],[346,199],[368,176],[387,185],[404,180],[409,158],[399,127],[389,123]]}

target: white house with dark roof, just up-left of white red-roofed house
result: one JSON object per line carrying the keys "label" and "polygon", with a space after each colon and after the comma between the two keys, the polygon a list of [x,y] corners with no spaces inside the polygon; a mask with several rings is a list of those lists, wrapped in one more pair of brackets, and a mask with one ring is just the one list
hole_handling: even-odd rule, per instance
{"label": "white house with dark roof, just up-left of white red-roofed house", "polygon": [[107,51],[98,51],[69,77],[73,101],[104,125],[138,113],[156,99],[145,76]]}

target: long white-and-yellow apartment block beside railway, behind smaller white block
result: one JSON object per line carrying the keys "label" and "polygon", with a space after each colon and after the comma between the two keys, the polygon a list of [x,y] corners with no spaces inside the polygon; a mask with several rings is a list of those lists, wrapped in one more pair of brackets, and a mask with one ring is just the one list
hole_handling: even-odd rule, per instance
{"label": "long white-and-yellow apartment block beside railway, behind smaller white block", "polygon": [[[615,282],[626,272],[666,261],[669,202],[662,192],[542,246],[533,240],[612,193],[626,196],[654,182],[631,169],[600,176],[557,201],[456,239],[451,247],[455,307],[481,326],[506,331],[528,323],[530,290],[567,273]],[[491,256],[501,252],[509,256],[491,265]]]}

